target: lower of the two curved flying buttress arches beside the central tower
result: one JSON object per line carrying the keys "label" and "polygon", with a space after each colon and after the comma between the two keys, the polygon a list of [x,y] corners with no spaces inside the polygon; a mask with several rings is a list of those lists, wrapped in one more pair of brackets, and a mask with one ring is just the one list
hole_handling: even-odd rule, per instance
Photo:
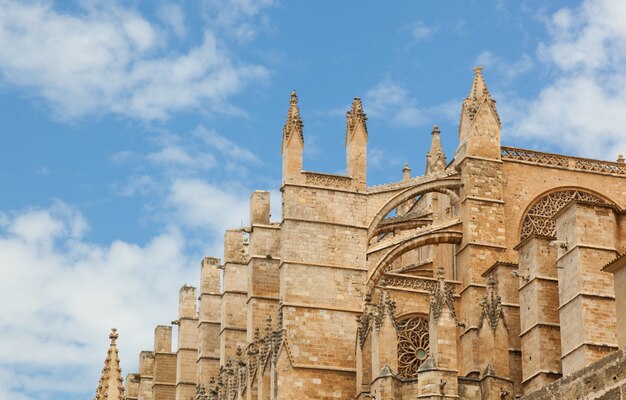
{"label": "lower of the two curved flying buttress arches beside the central tower", "polygon": [[385,257],[372,271],[372,274],[367,282],[366,293],[370,293],[374,289],[374,286],[383,276],[387,267],[401,255],[418,247],[429,244],[459,244],[462,239],[463,233],[461,231],[446,229],[442,231],[429,232],[426,235],[417,236],[397,245],[393,250],[385,255]]}

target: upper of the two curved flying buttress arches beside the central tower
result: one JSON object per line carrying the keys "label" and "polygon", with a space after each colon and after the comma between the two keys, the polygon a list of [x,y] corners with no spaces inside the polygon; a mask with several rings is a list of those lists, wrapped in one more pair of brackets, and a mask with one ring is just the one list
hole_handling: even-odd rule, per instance
{"label": "upper of the two curved flying buttress arches beside the central tower", "polygon": [[413,197],[422,195],[424,193],[429,193],[429,192],[439,192],[439,193],[445,194],[446,196],[449,196],[452,203],[455,206],[458,206],[459,197],[454,192],[454,190],[460,187],[461,187],[461,178],[459,176],[448,176],[448,177],[434,179],[431,181],[422,182],[418,184],[417,186],[413,186],[409,189],[406,189],[398,193],[397,195],[389,199],[389,201],[387,201],[387,203],[385,203],[385,205],[382,206],[382,208],[376,213],[376,215],[372,219],[372,222],[370,223],[367,229],[368,240],[374,237],[374,233],[376,232],[376,227],[378,227],[378,225],[382,222],[385,216],[387,216],[387,214],[393,211],[400,204],[404,203],[405,201]]}

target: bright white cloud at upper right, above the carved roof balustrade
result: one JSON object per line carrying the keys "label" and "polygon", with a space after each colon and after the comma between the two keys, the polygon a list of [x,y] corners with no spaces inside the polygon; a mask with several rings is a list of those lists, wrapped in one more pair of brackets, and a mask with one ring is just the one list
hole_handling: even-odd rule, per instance
{"label": "bright white cloud at upper right, above the carved roof balustrade", "polygon": [[554,80],[536,98],[503,99],[506,133],[615,159],[626,151],[626,2],[584,1],[548,20],[538,47]]}

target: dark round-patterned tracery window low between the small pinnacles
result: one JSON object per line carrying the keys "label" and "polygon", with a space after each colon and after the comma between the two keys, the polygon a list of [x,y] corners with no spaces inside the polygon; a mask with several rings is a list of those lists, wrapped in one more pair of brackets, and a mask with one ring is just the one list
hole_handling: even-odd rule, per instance
{"label": "dark round-patterned tracery window low between the small pinnacles", "polygon": [[398,322],[398,376],[417,378],[429,354],[428,319],[414,316]]}

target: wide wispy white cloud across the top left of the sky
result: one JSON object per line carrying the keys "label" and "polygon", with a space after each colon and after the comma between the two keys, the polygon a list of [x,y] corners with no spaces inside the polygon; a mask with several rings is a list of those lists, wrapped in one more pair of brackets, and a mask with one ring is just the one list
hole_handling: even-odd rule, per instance
{"label": "wide wispy white cloud across the top left of the sky", "polygon": [[49,1],[0,2],[0,74],[44,98],[61,118],[113,113],[165,119],[206,106],[233,113],[228,98],[252,80],[258,65],[231,60],[211,31],[185,54],[134,11],[116,5],[79,13]]}

